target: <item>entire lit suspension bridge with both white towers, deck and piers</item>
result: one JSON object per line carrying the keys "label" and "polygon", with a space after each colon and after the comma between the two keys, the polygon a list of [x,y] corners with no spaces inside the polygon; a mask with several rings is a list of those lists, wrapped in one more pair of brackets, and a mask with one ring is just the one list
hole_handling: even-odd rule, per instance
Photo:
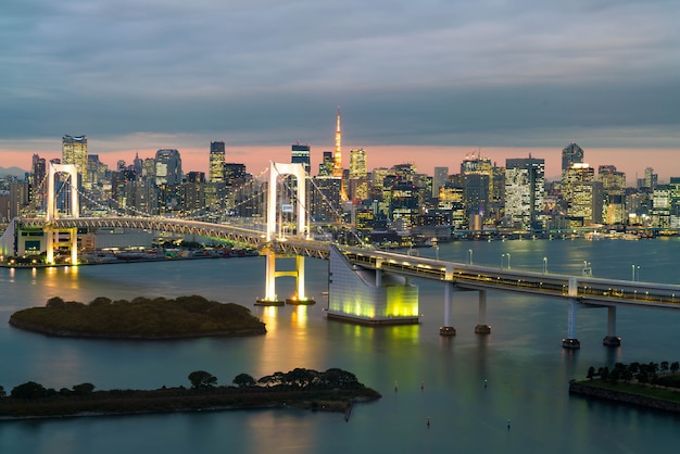
{"label": "entire lit suspension bridge with both white towers, deck and piers", "polygon": [[[54,187],[56,173],[64,173],[73,181],[76,180],[74,166],[52,164],[48,176],[49,188]],[[289,176],[297,179],[297,187],[288,184]],[[48,264],[54,261],[54,245],[64,243],[71,249],[71,263],[77,264],[77,231],[85,228],[121,227],[236,241],[259,249],[266,257],[265,297],[256,301],[260,305],[313,304],[314,300],[307,298],[304,290],[304,260],[329,260],[327,316],[369,325],[418,323],[418,287],[413,280],[437,281],[444,288],[442,336],[456,333],[452,307],[457,292],[478,292],[475,332],[479,335],[491,332],[486,321],[489,290],[550,297],[567,302],[567,337],[563,339],[563,345],[570,349],[580,346],[576,335],[578,310],[607,310],[605,345],[620,344],[616,333],[617,307],[680,310],[680,286],[538,273],[509,269],[509,266],[479,266],[314,240],[310,237],[306,179],[301,164],[270,163],[267,215],[263,228],[160,216],[80,217],[76,185],[71,185],[68,212],[61,213],[56,209],[55,193],[48,190],[46,216],[13,219],[3,234],[2,243],[4,249],[11,243],[15,252],[21,252],[25,247],[22,232],[38,229],[41,235],[37,238],[40,238],[40,249],[47,251]],[[295,228],[290,234],[285,234],[282,228],[281,186],[294,193]],[[277,257],[294,257],[295,269],[277,270]],[[284,276],[295,278],[295,294],[281,301],[276,293],[276,279]]]}

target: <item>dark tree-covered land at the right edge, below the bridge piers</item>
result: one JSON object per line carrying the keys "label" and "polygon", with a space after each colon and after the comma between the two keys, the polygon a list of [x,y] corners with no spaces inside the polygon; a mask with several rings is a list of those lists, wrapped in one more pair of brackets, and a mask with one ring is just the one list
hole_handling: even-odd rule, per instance
{"label": "dark tree-covered land at the right edge, below the bridge piers", "polygon": [[680,363],[616,363],[593,366],[587,380],[569,382],[569,393],[680,413]]}

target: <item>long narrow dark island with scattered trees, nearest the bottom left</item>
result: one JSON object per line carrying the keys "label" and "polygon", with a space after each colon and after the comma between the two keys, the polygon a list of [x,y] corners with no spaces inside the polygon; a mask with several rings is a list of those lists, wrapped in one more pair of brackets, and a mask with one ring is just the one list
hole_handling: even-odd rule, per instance
{"label": "long narrow dark island with scattered trees, nearest the bottom left", "polygon": [[0,419],[293,407],[343,412],[347,420],[354,403],[380,398],[353,374],[339,368],[324,373],[295,368],[257,380],[239,374],[234,386],[217,386],[217,378],[204,370],[196,370],[188,378],[190,388],[150,391],[95,391],[91,383],[56,391],[29,381],[7,395],[0,386]]}

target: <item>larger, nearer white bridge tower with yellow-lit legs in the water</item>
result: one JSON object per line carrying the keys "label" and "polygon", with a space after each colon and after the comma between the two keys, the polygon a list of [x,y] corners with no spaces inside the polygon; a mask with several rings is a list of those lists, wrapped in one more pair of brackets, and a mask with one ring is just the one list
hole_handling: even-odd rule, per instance
{"label": "larger, nearer white bridge tower with yellow-lit legs in the water", "polygon": [[[286,241],[285,229],[282,223],[278,223],[277,218],[279,214],[284,212],[292,212],[292,206],[284,203],[277,203],[277,189],[278,178],[281,176],[292,175],[297,180],[295,201],[297,201],[297,215],[295,215],[295,234],[298,238],[306,239],[308,237],[310,227],[306,216],[306,175],[304,166],[302,164],[285,164],[269,162],[269,187],[267,191],[267,224],[266,224],[266,240],[267,245],[264,248],[266,256],[266,270],[265,270],[265,295],[262,299],[257,299],[256,305],[275,306],[284,305],[284,302],[278,299],[276,293],[276,278],[284,276],[292,276],[295,278],[295,294],[292,298],[286,299],[287,304],[314,304],[314,299],[307,298],[304,292],[304,257],[295,256],[295,269],[294,270],[276,270],[276,243],[279,241]],[[282,257],[279,255],[279,257]]]}

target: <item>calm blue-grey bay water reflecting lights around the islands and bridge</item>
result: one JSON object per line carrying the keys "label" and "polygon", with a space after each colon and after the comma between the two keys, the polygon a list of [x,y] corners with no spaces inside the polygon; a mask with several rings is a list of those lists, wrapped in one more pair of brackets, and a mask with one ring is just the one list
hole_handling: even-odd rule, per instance
{"label": "calm blue-grey bay water reflecting lights around the islands and bridge", "polygon": [[[456,242],[439,249],[442,258],[471,256],[492,266],[502,260],[507,266],[509,254],[513,268],[542,270],[546,263],[553,273],[580,274],[585,261],[595,276],[617,279],[631,279],[634,265],[640,280],[673,283],[680,282],[679,253],[679,239]],[[98,389],[152,389],[188,386],[197,369],[226,384],[240,373],[341,367],[383,395],[356,406],[349,423],[339,414],[295,409],[4,421],[0,453],[646,453],[677,444],[680,417],[570,398],[567,386],[591,365],[680,361],[680,311],[619,308],[618,349],[602,345],[606,311],[581,311],[581,349],[566,351],[564,301],[489,292],[492,333],[477,336],[477,293],[462,292],[454,301],[457,336],[442,338],[442,287],[417,282],[417,326],[329,321],[322,295],[328,264],[306,264],[307,292],[318,303],[268,308],[252,305],[264,293],[262,257],[0,269],[0,384],[7,391],[29,380],[55,389],[86,381]],[[277,282],[280,295],[292,290],[292,279]],[[87,302],[184,294],[247,305],[268,332],[131,342],[50,338],[7,323],[13,312],[54,295]]]}

